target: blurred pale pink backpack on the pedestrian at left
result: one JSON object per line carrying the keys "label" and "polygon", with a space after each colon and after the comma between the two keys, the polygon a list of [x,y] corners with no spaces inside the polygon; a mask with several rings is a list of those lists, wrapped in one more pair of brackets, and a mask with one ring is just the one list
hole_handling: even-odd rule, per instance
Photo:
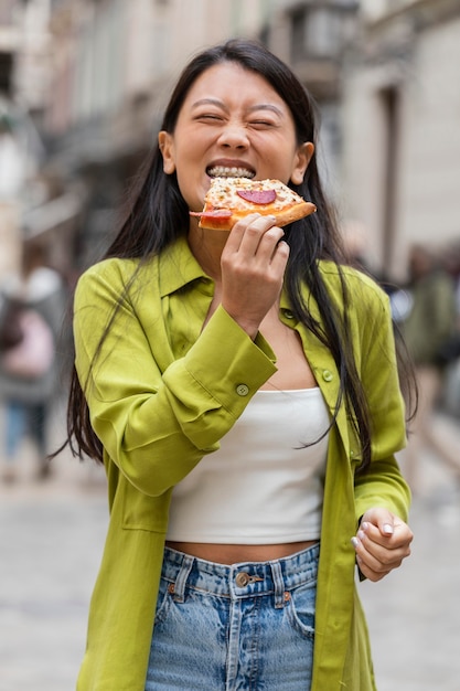
{"label": "blurred pale pink backpack on the pedestrian at left", "polygon": [[54,359],[54,338],[43,317],[23,308],[18,316],[22,332],[20,342],[1,355],[3,372],[19,379],[38,379],[45,374]]}

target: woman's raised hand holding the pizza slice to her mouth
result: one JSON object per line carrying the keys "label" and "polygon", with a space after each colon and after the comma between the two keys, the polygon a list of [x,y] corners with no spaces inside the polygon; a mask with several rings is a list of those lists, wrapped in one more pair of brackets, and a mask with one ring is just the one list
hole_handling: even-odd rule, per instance
{"label": "woman's raised hand holding the pizza slice to her mouth", "polygon": [[275,216],[250,214],[228,235],[221,258],[222,306],[254,339],[260,322],[278,300],[289,246]]}

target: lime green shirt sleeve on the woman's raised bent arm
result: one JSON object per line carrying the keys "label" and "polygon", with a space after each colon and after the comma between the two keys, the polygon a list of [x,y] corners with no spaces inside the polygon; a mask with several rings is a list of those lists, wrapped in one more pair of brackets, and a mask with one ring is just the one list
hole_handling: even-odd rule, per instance
{"label": "lime green shirt sleeve on the woman's raised bent arm", "polygon": [[154,497],[218,448],[276,371],[275,355],[263,337],[253,342],[220,307],[175,359],[154,287],[146,298],[138,296],[150,300],[147,323],[127,283],[120,263],[110,261],[79,279],[75,364],[105,454],[137,489]]}

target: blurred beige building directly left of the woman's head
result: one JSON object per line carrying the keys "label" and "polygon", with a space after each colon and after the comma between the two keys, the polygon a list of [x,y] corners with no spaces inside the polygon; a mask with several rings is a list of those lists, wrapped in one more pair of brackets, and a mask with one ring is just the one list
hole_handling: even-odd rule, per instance
{"label": "blurred beige building directly left of the woman's head", "polygon": [[269,4],[51,1],[53,60],[44,130],[50,166],[67,189],[76,189],[81,203],[77,270],[107,242],[114,210],[153,142],[183,63],[202,45],[257,32]]}

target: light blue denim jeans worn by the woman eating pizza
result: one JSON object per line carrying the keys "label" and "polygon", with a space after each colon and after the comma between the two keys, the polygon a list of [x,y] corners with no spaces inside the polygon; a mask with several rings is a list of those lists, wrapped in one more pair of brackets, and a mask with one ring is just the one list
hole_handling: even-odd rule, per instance
{"label": "light blue denim jeans worn by the woman eating pizza", "polygon": [[146,691],[308,691],[319,551],[226,566],[167,548]]}

